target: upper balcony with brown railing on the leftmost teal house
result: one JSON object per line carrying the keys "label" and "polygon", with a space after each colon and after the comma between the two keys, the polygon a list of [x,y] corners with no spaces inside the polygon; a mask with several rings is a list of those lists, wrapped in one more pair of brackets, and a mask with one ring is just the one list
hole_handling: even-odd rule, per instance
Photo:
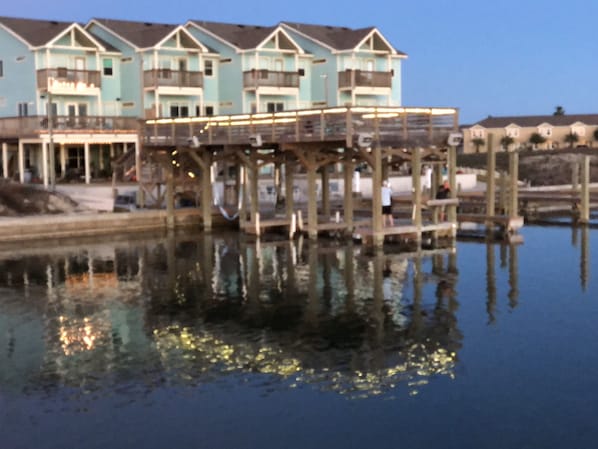
{"label": "upper balcony with brown railing on the leftmost teal house", "polygon": [[88,93],[102,85],[99,70],[73,70],[66,67],[37,71],[37,87],[42,91],[64,94]]}

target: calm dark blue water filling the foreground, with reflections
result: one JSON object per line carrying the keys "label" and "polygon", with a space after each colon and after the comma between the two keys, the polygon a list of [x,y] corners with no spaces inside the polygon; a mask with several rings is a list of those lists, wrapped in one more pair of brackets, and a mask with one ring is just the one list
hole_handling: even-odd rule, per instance
{"label": "calm dark blue water filling the foreground, with reflections", "polygon": [[598,230],[0,248],[0,447],[589,448]]}

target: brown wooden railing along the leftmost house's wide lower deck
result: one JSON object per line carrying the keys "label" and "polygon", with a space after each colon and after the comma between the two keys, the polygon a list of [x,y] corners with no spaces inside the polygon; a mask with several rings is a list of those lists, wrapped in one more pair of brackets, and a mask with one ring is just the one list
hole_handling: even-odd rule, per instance
{"label": "brown wooden railing along the leftmost house's wide lower deck", "polygon": [[[0,137],[37,137],[48,132],[48,117],[0,118]],[[52,117],[52,130],[55,133],[79,132],[137,132],[139,120],[135,117],[109,116],[55,116]]]}

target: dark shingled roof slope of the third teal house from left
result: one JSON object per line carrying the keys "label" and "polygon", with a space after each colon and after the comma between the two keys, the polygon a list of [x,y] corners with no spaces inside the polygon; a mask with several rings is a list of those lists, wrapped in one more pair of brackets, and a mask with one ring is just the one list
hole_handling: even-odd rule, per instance
{"label": "dark shingled roof slope of the third teal house from left", "polygon": [[188,23],[241,50],[257,48],[278,28],[277,26],[206,22],[204,20],[190,20]]}

